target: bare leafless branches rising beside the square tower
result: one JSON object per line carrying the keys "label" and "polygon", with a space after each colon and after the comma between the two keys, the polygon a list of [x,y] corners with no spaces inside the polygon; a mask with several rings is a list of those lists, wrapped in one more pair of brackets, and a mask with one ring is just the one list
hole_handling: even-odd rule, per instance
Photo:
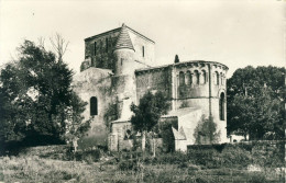
{"label": "bare leafless branches rising beside the square tower", "polygon": [[67,50],[69,42],[65,41],[59,33],[56,33],[53,37],[50,37],[52,48],[57,53],[58,61],[63,61],[63,56]]}

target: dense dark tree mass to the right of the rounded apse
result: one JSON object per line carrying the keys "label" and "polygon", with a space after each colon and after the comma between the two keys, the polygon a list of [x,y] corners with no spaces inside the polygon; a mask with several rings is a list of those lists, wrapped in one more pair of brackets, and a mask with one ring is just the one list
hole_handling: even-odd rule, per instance
{"label": "dense dark tree mass to the right of the rounded apse", "polygon": [[261,139],[284,137],[285,68],[251,66],[228,80],[228,133]]}

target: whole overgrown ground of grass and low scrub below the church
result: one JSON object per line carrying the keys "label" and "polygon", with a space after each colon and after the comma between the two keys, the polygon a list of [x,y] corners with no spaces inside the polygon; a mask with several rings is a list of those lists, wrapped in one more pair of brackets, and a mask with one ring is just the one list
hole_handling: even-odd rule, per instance
{"label": "whole overgrown ground of grass and low scrub below the church", "polygon": [[36,147],[18,157],[0,157],[0,182],[274,183],[285,180],[280,153],[255,148],[252,151],[240,147],[221,151],[197,149],[187,155],[161,153],[156,158],[141,152],[105,155],[97,148],[76,153],[65,149]]}

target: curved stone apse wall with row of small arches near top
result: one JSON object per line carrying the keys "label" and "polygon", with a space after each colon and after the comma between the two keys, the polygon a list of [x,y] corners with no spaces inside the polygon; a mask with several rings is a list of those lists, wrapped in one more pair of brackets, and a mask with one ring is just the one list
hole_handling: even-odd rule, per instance
{"label": "curved stone apse wall with row of small arches near top", "polygon": [[[221,64],[199,60],[175,64],[173,71],[175,110],[198,107],[206,116],[212,115],[221,133],[221,142],[227,140],[227,71]],[[223,119],[220,117],[221,93],[224,95]]]}

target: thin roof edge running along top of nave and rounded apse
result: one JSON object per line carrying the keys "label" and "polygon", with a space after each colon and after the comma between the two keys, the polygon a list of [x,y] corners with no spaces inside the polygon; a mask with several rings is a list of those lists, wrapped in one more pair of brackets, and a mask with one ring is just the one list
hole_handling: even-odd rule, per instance
{"label": "thin roof edge running along top of nave and rounded apse", "polygon": [[147,71],[147,70],[154,70],[154,69],[162,69],[162,68],[167,68],[170,66],[184,66],[184,65],[191,65],[191,64],[216,64],[216,65],[222,65],[223,67],[226,67],[227,69],[229,69],[228,66],[217,62],[217,61],[205,61],[205,60],[189,60],[189,61],[183,61],[183,62],[176,62],[176,64],[170,64],[170,65],[163,65],[163,66],[156,66],[156,67],[150,67],[150,68],[141,68],[141,69],[136,69],[135,72],[141,72],[141,71]]}

